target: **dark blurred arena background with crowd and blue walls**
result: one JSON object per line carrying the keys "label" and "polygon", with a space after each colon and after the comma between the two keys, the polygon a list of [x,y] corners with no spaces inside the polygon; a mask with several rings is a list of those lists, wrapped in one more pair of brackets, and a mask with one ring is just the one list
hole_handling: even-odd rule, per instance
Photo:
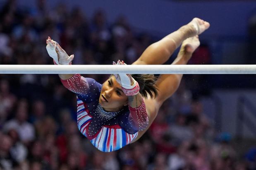
{"label": "dark blurred arena background with crowd and blue walls", "polygon": [[[0,0],[0,64],[53,64],[48,36],[74,65],[129,64],[194,17],[211,27],[189,64],[256,64],[253,0]],[[255,88],[255,75],[184,75],[139,141],[103,153],[57,75],[0,75],[0,169],[255,170]]]}

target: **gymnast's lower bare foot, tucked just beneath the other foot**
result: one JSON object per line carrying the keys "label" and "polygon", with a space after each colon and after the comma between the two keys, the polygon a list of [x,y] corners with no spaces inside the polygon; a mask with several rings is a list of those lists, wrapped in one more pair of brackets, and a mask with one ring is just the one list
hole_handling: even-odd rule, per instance
{"label": "gymnast's lower bare foot, tucked just beneath the other foot", "polygon": [[194,37],[187,38],[182,42],[182,45],[179,50],[179,55],[187,57],[189,60],[193,52],[199,47],[200,41],[198,35]]}

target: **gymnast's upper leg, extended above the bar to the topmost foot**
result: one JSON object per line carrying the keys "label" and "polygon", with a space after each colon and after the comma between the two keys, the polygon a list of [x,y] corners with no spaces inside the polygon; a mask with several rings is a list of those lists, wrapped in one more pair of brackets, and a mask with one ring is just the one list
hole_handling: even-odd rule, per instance
{"label": "gymnast's upper leg, extended above the bar to the topmost foot", "polygon": [[133,64],[163,64],[184,40],[203,33],[209,26],[208,22],[194,18],[187,25],[151,44]]}

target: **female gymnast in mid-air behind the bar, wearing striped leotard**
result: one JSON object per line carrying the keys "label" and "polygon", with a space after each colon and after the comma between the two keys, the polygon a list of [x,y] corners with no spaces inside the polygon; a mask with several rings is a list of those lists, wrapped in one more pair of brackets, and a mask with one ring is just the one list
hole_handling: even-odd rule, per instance
{"label": "female gymnast in mid-air behind the bar, wearing striped leotard", "polygon": [[[172,64],[184,65],[199,47],[198,35],[210,24],[198,18],[151,44],[132,64],[165,63],[181,45]],[[69,65],[74,55],[68,56],[60,45],[46,40],[48,54],[55,64]],[[124,65],[123,61],[113,65]],[[85,65],[86,67],[86,65]],[[178,88],[182,75],[111,75],[103,84],[79,74],[59,75],[62,84],[77,94],[77,125],[93,146],[110,152],[138,140],[149,128],[163,102]]]}

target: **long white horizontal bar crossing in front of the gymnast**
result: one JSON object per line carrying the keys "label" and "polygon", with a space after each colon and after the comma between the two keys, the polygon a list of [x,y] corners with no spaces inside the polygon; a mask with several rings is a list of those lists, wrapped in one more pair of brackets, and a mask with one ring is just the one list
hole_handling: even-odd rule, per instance
{"label": "long white horizontal bar crossing in front of the gymnast", "polygon": [[0,74],[256,74],[256,65],[0,65]]}

